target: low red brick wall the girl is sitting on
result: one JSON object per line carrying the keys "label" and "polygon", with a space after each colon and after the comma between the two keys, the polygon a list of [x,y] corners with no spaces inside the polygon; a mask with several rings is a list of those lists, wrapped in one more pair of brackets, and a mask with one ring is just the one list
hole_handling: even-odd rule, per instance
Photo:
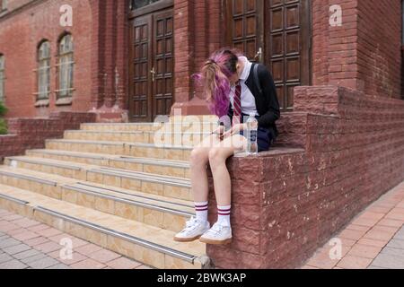
{"label": "low red brick wall the girl is sitting on", "polygon": [[[293,268],[404,179],[404,100],[299,87],[277,146],[228,161],[233,243],[207,246],[222,268]],[[298,149],[287,148],[288,143]],[[216,220],[213,179],[209,220]]]}

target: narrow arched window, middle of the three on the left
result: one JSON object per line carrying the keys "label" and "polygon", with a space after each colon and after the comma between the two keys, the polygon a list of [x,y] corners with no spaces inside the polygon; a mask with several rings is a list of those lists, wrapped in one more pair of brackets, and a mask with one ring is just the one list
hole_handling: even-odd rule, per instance
{"label": "narrow arched window, middle of the three on the left", "polygon": [[50,44],[43,41],[38,48],[38,100],[48,100],[50,92]]}

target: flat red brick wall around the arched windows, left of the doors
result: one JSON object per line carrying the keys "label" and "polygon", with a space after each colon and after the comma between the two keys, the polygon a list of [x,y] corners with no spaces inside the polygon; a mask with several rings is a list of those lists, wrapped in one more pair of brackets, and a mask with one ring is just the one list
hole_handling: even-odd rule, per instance
{"label": "flat red brick wall around the arched windows, left of the doors", "polygon": [[[71,28],[59,25],[62,4],[73,7]],[[13,1],[10,5],[13,6]],[[92,26],[91,11],[89,1],[39,1],[30,4],[21,13],[5,14],[0,18],[0,53],[5,57],[5,104],[10,109],[7,117],[44,117],[52,111],[91,109],[92,35],[88,30]],[[75,92],[71,106],[56,106],[57,40],[65,30],[74,37]],[[51,45],[52,92],[49,107],[36,109],[34,92],[38,91],[38,87],[34,70],[37,68],[37,47],[42,39],[48,39]]]}

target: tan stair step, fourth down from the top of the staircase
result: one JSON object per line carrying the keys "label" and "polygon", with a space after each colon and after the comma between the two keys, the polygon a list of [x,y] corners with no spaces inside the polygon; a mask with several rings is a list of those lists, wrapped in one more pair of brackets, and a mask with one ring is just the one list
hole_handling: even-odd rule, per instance
{"label": "tan stair step, fourth down from the top of the staircase", "polygon": [[164,161],[136,158],[123,155],[110,155],[91,152],[66,152],[58,150],[28,150],[26,155],[57,161],[70,161],[93,164],[103,167],[142,171],[176,178],[189,178],[189,161]]}

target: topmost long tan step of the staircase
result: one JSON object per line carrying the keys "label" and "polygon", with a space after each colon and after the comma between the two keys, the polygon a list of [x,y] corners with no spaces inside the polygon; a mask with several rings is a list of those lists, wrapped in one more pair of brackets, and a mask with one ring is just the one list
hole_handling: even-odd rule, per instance
{"label": "topmost long tan step of the staircase", "polygon": [[212,132],[217,128],[217,122],[200,122],[196,121],[178,121],[169,123],[95,123],[95,124],[82,124],[81,130],[85,131],[103,131],[103,132]]}

